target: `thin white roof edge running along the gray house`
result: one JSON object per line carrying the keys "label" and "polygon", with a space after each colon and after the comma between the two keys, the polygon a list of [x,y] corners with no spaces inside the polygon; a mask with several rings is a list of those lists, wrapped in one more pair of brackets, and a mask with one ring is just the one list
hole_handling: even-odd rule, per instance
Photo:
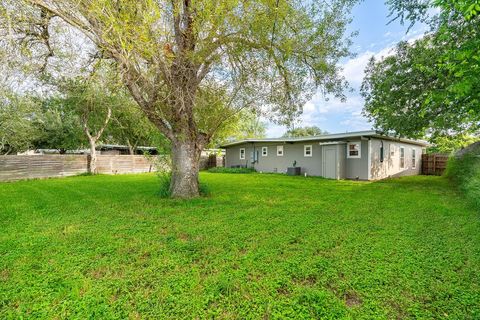
{"label": "thin white roof edge running along the gray house", "polygon": [[333,134],[326,134],[321,136],[313,136],[313,137],[300,137],[300,138],[266,138],[266,139],[244,139],[233,141],[230,143],[225,143],[220,146],[220,148],[231,147],[239,144],[244,143],[261,143],[261,142],[305,142],[305,141],[318,141],[318,140],[330,140],[330,139],[346,139],[346,138],[353,138],[353,137],[361,137],[361,136],[368,136],[374,138],[382,138],[382,139],[389,139],[394,141],[400,141],[410,144],[417,144],[421,146],[428,146],[428,142],[420,141],[420,140],[411,140],[406,138],[397,138],[389,135],[383,135],[375,130],[368,130],[368,131],[356,131],[356,132],[345,132],[345,133],[333,133]]}

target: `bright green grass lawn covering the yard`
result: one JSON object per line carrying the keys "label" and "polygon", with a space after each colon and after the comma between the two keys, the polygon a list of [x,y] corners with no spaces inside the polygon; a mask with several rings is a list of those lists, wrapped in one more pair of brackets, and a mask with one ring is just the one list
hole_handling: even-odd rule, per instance
{"label": "bright green grass lawn covering the yard", "polygon": [[0,318],[480,318],[480,213],[444,178],[201,179],[1,183]]}

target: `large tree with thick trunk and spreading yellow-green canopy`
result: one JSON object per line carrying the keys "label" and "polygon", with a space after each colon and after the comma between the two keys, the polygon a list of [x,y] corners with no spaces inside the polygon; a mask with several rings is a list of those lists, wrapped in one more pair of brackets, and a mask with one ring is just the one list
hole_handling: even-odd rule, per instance
{"label": "large tree with thick trunk and spreading yellow-green canopy", "polygon": [[[201,150],[232,110],[263,107],[288,121],[319,87],[343,97],[337,64],[349,55],[345,30],[356,2],[3,0],[2,8],[6,27],[23,35],[13,38],[40,40],[35,52],[44,47],[44,62],[55,56],[52,34],[65,25],[88,39],[79,47],[114,60],[139,107],[171,141],[171,194],[194,197]],[[219,97],[225,109],[213,110]]]}

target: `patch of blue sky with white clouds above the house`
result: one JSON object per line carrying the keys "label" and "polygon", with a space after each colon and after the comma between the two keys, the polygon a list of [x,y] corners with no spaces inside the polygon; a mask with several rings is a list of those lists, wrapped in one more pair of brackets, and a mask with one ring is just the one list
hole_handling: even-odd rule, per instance
{"label": "patch of blue sky with white clouds above the house", "polygon": [[[425,26],[416,25],[407,34],[408,26],[402,26],[397,21],[388,24],[388,8],[382,0],[365,0],[354,8],[352,14],[349,33],[359,32],[352,46],[356,56],[344,61],[342,67],[354,91],[347,93],[344,103],[335,98],[325,101],[320,94],[315,95],[304,106],[296,126],[316,125],[331,133],[370,129],[371,124],[361,115],[363,99],[359,92],[368,60],[373,55],[384,56],[397,42],[416,39],[426,31]],[[278,137],[285,131],[285,127],[268,124],[267,136]]]}

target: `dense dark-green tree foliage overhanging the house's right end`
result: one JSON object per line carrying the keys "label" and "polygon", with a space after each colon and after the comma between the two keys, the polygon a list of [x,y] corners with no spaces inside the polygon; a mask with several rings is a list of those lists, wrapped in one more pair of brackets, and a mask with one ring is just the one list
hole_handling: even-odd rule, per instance
{"label": "dense dark-green tree foliage overhanging the house's right end", "polygon": [[[431,32],[372,59],[362,85],[365,114],[379,129],[432,141],[480,128],[479,1],[389,0],[392,16]],[[429,15],[432,9],[439,14]]]}

